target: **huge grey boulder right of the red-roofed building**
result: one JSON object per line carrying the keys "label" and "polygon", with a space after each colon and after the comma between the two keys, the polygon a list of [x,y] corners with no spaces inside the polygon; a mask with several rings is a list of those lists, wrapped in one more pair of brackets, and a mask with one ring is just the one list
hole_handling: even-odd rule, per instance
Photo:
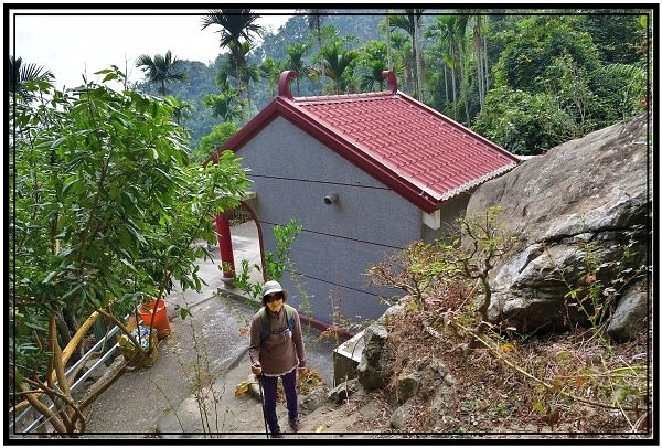
{"label": "huge grey boulder right of the red-roofed building", "polygon": [[[612,309],[628,295],[626,280],[650,263],[647,119],[640,116],[553,148],[472,194],[468,216],[499,205],[501,224],[521,241],[491,274],[488,320],[523,332],[564,330],[590,323],[596,307]],[[601,290],[592,290],[590,301],[577,301],[597,286]],[[619,339],[628,337],[621,331]]]}

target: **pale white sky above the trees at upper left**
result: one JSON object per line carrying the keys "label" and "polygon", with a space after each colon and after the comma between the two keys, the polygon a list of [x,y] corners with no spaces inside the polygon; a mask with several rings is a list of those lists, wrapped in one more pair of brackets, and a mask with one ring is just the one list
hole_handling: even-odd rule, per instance
{"label": "pale white sky above the trees at upper left", "polygon": [[[210,9],[213,6],[210,6]],[[118,7],[119,8],[119,7]],[[203,9],[13,9],[10,12],[9,54],[23,64],[51,71],[58,88],[100,81],[94,75],[110,65],[127,73],[131,82],[143,78],[135,61],[141,54],[213,63],[221,49],[217,25],[202,30]],[[257,23],[271,32],[285,24],[295,10],[255,9],[264,14]],[[139,15],[140,14],[140,15]],[[15,44],[15,46],[14,46]]]}

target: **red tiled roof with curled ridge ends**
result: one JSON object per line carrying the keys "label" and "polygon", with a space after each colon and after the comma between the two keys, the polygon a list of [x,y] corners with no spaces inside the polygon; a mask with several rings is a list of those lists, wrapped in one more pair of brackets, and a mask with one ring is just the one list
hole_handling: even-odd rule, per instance
{"label": "red tiled roof with curled ridge ends", "polygon": [[[241,148],[280,115],[426,212],[514,168],[519,159],[397,90],[293,98],[285,72],[279,96],[224,148]],[[224,149],[222,148],[222,149]]]}

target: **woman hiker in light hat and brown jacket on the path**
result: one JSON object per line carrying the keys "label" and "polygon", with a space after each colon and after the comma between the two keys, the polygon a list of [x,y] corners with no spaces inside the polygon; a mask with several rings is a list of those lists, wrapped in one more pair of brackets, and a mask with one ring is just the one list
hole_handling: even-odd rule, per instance
{"label": "woman hiker in light hat and brown jacket on the path", "polygon": [[286,305],[287,291],[278,281],[267,281],[261,290],[263,308],[250,322],[250,371],[264,387],[265,419],[271,437],[280,437],[276,415],[276,386],[282,378],[290,427],[301,429],[297,395],[297,371],[306,369],[306,350],[299,313]]}

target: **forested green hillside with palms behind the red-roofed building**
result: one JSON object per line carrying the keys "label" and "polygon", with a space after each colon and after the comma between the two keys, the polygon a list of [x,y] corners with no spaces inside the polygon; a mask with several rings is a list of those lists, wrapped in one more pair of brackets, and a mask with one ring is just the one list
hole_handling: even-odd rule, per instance
{"label": "forested green hillside with palms behind the red-roofed building", "polygon": [[[186,81],[167,94],[184,105],[194,160],[264,108],[285,70],[299,74],[295,96],[314,96],[382,89],[392,68],[402,92],[517,154],[636,116],[649,100],[647,10],[299,12],[275,33],[239,36],[213,65],[173,55]],[[138,87],[158,86],[147,77]]]}

